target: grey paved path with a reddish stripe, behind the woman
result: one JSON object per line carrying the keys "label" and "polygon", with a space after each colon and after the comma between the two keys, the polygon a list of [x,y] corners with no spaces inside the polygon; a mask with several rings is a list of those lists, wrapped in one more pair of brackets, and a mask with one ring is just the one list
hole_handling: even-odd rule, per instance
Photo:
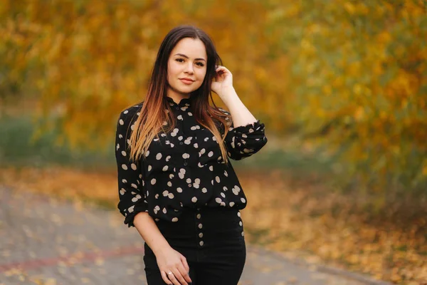
{"label": "grey paved path with a reddish stripe, behind the woman", "polygon": [[[0,285],[146,284],[143,242],[117,211],[0,186]],[[347,276],[347,277],[346,277]],[[374,284],[248,246],[241,285]]]}

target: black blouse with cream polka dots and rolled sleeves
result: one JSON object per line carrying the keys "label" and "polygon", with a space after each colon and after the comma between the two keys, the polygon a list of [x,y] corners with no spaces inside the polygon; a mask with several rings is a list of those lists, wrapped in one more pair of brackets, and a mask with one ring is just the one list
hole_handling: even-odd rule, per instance
{"label": "black blouse with cream polka dots and rolled sleeves", "polygon": [[[117,207],[125,216],[125,224],[134,227],[138,212],[148,212],[156,221],[176,222],[184,207],[246,207],[246,196],[231,163],[223,161],[211,131],[196,122],[191,100],[184,98],[175,103],[167,97],[167,103],[176,127],[154,138],[146,157],[135,163],[130,162],[128,146],[142,103],[120,113],[115,144],[120,197]],[[223,128],[219,130],[223,134]],[[231,125],[225,143],[231,159],[249,157],[267,143],[264,124],[258,120],[237,128]]]}

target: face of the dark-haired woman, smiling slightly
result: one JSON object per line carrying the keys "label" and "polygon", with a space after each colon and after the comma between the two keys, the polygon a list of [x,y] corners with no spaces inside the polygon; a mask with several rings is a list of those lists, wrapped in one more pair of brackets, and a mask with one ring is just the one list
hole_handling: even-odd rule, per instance
{"label": "face of the dark-haired woman, smiling slightly", "polygon": [[206,48],[199,38],[181,39],[172,50],[167,64],[169,89],[180,94],[197,90],[204,81],[207,61]]}

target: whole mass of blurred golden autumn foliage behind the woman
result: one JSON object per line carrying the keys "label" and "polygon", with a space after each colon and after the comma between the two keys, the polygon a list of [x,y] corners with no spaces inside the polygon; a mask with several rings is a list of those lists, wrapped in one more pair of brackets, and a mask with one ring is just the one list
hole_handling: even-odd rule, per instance
{"label": "whole mass of blurred golden autumn foliage behind the woman", "polygon": [[214,38],[269,131],[340,150],[337,179],[426,192],[422,0],[4,0],[0,93],[38,95],[62,140],[99,147],[118,112],[144,97],[159,43],[177,24]]}

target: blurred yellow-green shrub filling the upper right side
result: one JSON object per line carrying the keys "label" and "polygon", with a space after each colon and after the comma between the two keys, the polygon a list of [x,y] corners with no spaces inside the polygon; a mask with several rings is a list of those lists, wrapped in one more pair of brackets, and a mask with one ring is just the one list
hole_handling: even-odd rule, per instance
{"label": "blurred yellow-green shrub filling the upper right side", "polygon": [[295,120],[308,137],[347,148],[344,180],[426,193],[426,1],[307,0],[273,11],[269,28],[292,58]]}

